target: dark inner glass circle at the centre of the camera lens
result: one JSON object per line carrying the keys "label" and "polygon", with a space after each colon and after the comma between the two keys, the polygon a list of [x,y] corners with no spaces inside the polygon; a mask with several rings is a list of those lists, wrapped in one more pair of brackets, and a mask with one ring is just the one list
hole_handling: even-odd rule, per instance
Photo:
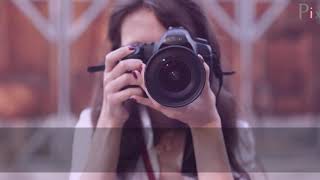
{"label": "dark inner glass circle at the centre of the camera lens", "polygon": [[179,60],[166,60],[160,70],[160,84],[167,91],[180,92],[191,81],[191,72],[186,64]]}

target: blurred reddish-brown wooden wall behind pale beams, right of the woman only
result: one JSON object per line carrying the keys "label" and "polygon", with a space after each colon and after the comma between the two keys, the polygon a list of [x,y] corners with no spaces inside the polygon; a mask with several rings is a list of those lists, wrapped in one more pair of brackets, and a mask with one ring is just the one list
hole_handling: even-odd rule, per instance
{"label": "blurred reddish-brown wooden wall behind pale beams, right of the woman only", "polygon": [[[311,5],[316,7],[315,2]],[[230,4],[224,4],[224,8],[235,18]],[[267,8],[267,4],[258,6],[257,20]],[[253,108],[258,116],[319,114],[320,23],[308,18],[300,20],[298,8],[297,2],[291,2],[254,44]],[[239,43],[214,24],[223,64],[229,68],[231,63],[232,69],[239,71]],[[239,98],[240,74],[227,79],[233,94]]]}

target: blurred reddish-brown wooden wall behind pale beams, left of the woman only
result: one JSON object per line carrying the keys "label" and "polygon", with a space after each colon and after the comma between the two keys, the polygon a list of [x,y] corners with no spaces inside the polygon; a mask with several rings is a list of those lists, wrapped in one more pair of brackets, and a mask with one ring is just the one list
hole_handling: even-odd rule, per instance
{"label": "blurred reddish-brown wooden wall behind pale beams, left of the woman only", "polygon": [[[57,47],[47,41],[9,1],[0,2],[0,119],[34,118],[57,110]],[[47,14],[46,2],[34,2]],[[88,2],[75,3],[75,19]],[[103,58],[107,11],[102,13],[71,48],[72,111],[88,105],[93,76],[89,64]]]}

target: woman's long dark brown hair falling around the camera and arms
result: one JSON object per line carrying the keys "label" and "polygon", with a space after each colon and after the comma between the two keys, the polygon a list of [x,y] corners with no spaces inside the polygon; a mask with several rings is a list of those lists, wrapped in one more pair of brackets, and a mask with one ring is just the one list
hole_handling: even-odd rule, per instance
{"label": "woman's long dark brown hair falling around the camera and arms", "polygon": [[[218,57],[220,63],[220,50],[218,42],[210,29],[208,19],[200,6],[192,0],[119,0],[114,4],[111,13],[108,37],[111,41],[112,50],[121,46],[121,25],[125,17],[141,8],[151,10],[165,27],[182,26],[186,28],[192,36],[207,39]],[[211,70],[212,72],[212,70]],[[213,92],[218,91],[217,79],[214,74],[210,73],[211,89]],[[102,75],[97,81],[96,91],[92,101],[92,123],[96,126],[103,97]],[[236,146],[238,144],[238,132],[236,127],[236,103],[233,97],[222,88],[219,95],[217,109],[222,121],[222,131],[226,144],[227,154],[229,157],[232,171],[240,175],[241,178],[250,179],[246,171],[240,166],[236,155]],[[120,143],[120,156],[118,161],[117,172],[128,172],[135,167],[138,157],[141,155],[143,147],[143,134],[141,129],[140,117],[137,106],[132,108],[129,120],[123,128],[122,139]],[[132,130],[135,129],[135,130]],[[194,156],[192,136],[190,129],[187,128],[186,146],[183,157],[182,173],[196,176],[197,167]],[[235,176],[239,179],[239,176]]]}

